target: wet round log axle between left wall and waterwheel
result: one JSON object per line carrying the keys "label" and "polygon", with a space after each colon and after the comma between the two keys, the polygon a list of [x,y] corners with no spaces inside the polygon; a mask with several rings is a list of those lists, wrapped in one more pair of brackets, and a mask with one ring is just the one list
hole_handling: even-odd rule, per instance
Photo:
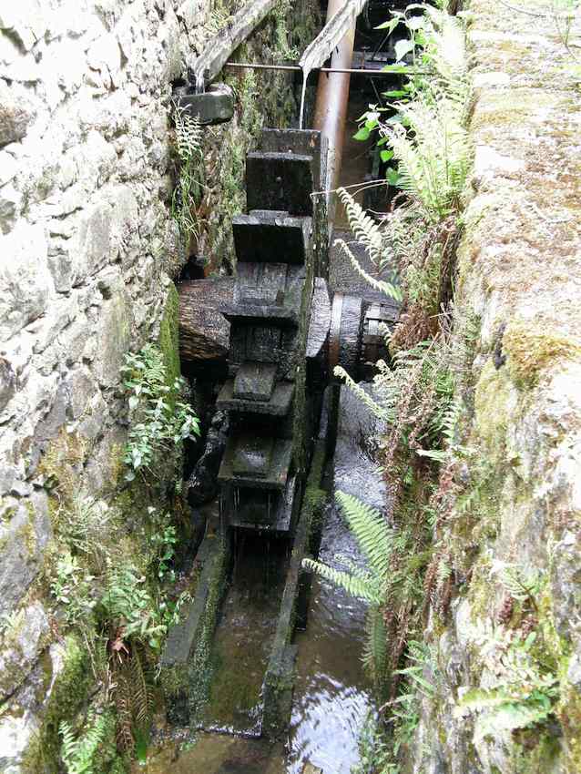
{"label": "wet round log axle between left wall and waterwheel", "polygon": [[233,277],[179,285],[179,354],[184,362],[226,360],[230,325],[219,309],[232,302],[233,292]]}

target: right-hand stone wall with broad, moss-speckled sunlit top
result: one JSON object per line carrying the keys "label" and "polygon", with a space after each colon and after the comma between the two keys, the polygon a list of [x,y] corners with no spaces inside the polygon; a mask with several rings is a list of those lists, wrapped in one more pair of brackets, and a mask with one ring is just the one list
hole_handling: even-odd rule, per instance
{"label": "right-hand stone wall with broad, moss-speckled sunlit top", "polygon": [[[578,66],[550,4],[464,5],[476,91],[455,300],[465,390],[437,548],[456,590],[447,610],[431,611],[425,677],[433,696],[423,698],[408,770],[574,774],[581,770]],[[578,45],[580,32],[577,21],[568,43]],[[528,591],[519,593],[511,577]]]}

